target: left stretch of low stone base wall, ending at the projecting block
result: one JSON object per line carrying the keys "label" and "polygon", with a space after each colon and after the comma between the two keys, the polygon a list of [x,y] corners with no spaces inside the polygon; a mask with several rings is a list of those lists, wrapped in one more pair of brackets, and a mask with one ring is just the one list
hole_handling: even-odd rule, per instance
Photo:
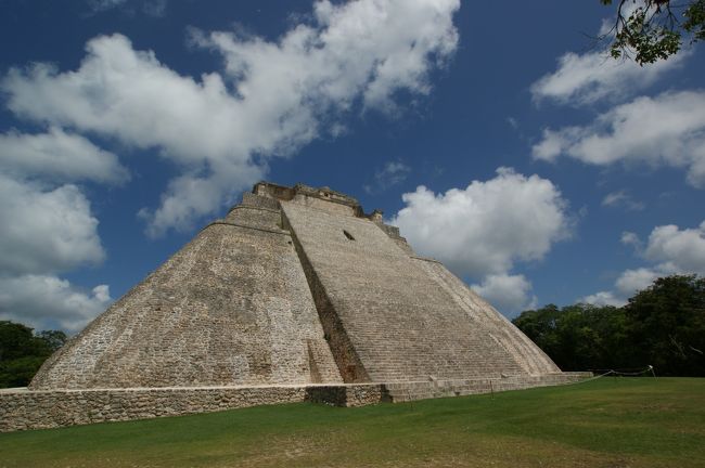
{"label": "left stretch of low stone base wall, ending at the projecting block", "polygon": [[379,403],[381,385],[0,391],[0,432],[209,413],[311,401],[335,406]]}

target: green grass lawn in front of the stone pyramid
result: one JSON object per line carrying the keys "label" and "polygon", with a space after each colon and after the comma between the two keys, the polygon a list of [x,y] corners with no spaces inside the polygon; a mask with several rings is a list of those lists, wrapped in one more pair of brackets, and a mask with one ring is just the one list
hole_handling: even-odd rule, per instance
{"label": "green grass lawn in front of the stone pyramid", "polygon": [[3,467],[705,467],[705,379],[339,408],[261,406],[0,434]]}

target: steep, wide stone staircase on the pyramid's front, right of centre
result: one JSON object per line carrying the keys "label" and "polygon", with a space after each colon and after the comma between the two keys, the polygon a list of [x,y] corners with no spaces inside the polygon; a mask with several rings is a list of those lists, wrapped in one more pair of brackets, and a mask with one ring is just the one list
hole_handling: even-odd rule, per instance
{"label": "steep, wide stone staircase on the pyramid's front, right of centre", "polygon": [[[374,222],[317,210],[296,198],[281,205],[321,283],[318,289],[372,381],[528,374]],[[333,354],[338,355],[335,349]]]}

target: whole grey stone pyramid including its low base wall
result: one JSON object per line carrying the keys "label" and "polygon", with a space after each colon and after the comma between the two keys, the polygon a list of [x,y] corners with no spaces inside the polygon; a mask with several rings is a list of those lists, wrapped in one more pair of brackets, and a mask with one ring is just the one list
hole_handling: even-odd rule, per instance
{"label": "whole grey stone pyramid including its low base wall", "polygon": [[560,385],[562,373],[377,210],[257,183],[0,391],[0,432],[253,406],[356,406]]}

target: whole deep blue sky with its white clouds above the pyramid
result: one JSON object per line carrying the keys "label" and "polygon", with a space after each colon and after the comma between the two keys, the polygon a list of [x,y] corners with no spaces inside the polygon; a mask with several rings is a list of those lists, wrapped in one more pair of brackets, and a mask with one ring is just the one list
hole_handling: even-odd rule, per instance
{"label": "whole deep blue sky with its white clouds above the pyramid", "polygon": [[508,316],[705,274],[702,46],[639,67],[597,0],[510,6],[3,0],[0,318],[80,329],[261,179]]}

